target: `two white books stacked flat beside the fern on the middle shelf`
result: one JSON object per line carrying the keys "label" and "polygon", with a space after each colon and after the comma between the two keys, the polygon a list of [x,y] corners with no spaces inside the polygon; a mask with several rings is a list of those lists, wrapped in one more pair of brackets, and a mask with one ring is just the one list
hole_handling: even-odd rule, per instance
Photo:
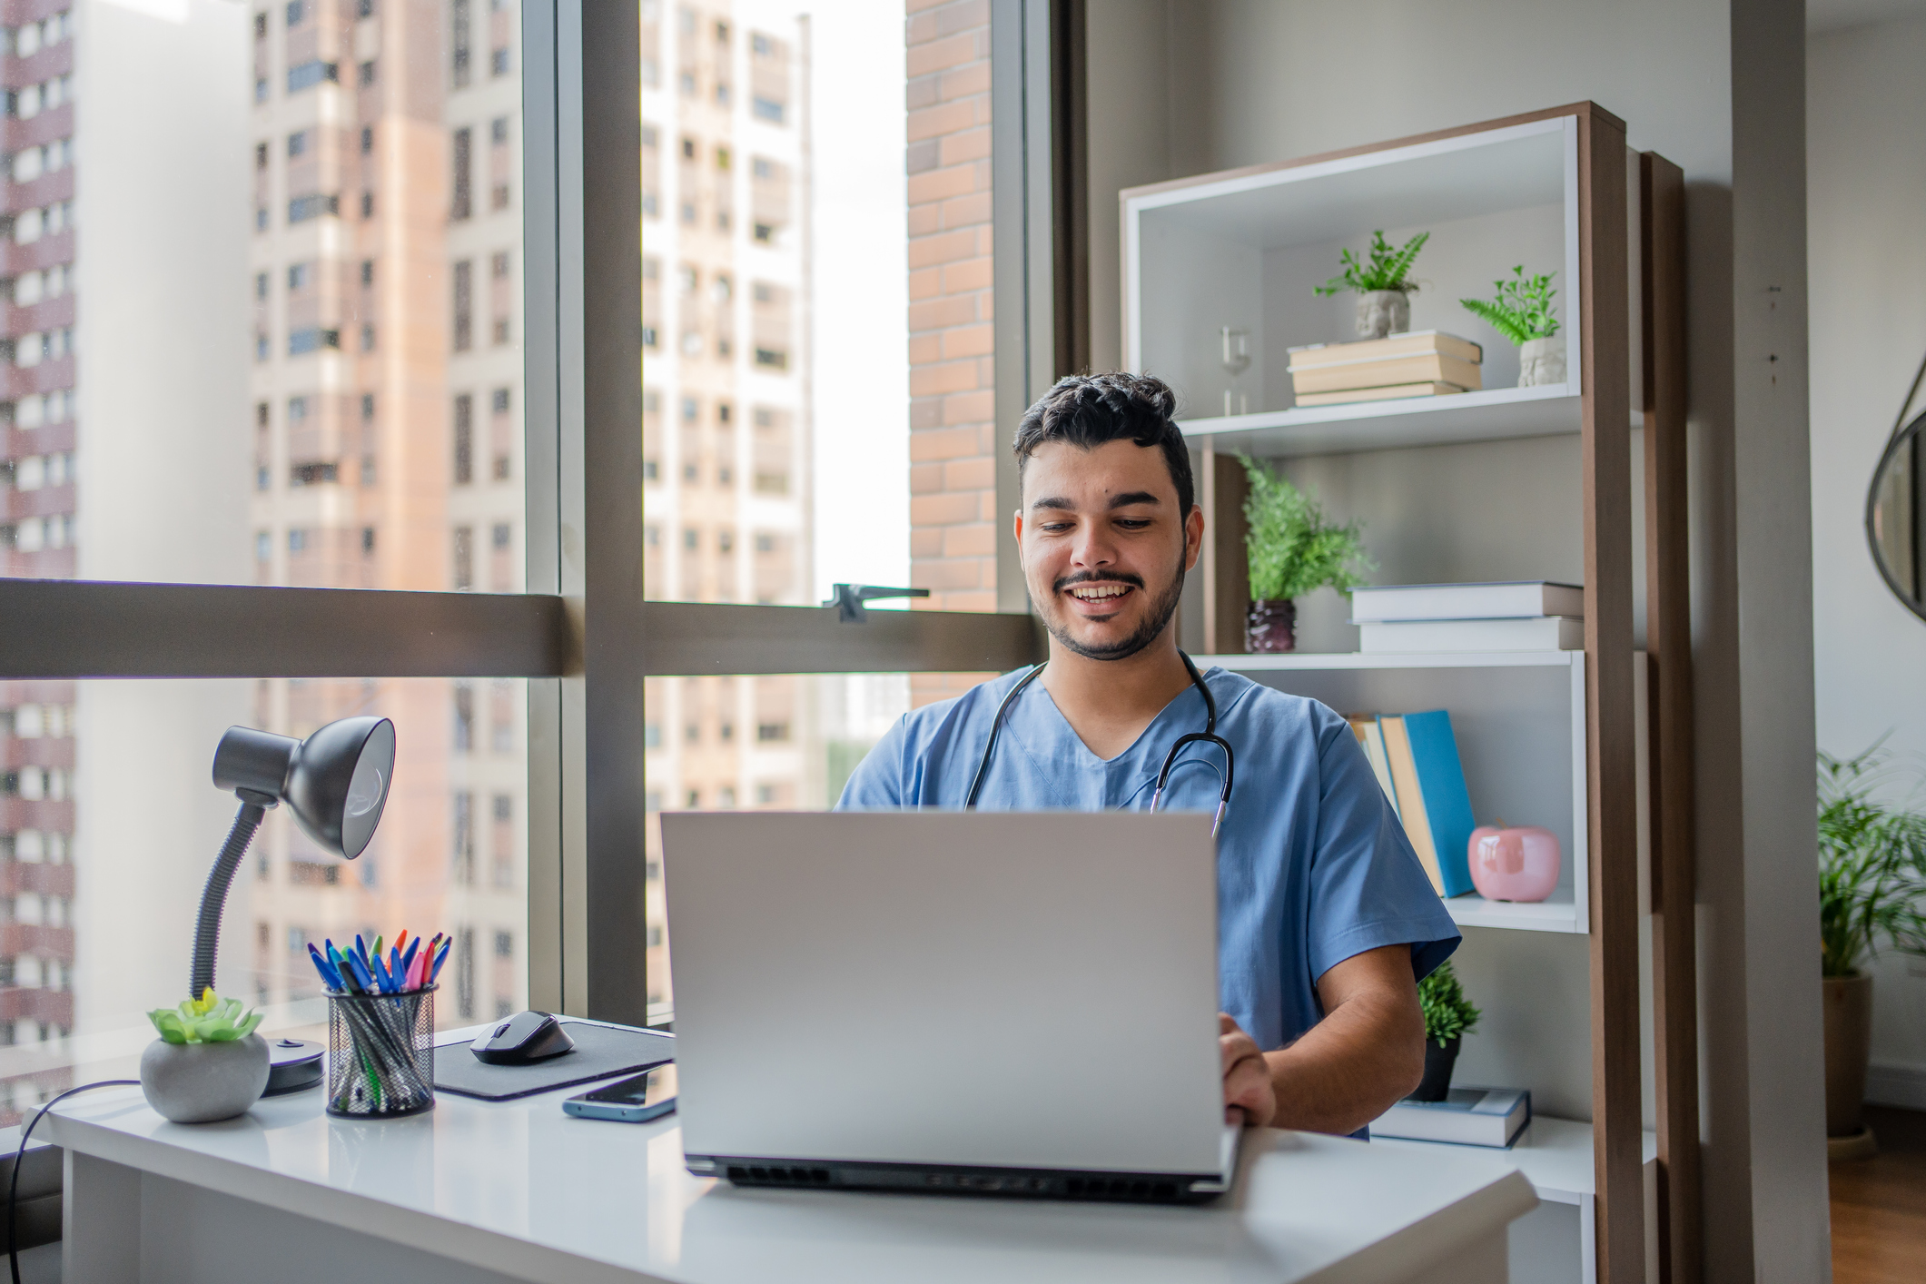
{"label": "two white books stacked flat beside the fern on the middle shelf", "polygon": [[1583,651],[1575,583],[1404,583],[1352,589],[1358,651]]}

